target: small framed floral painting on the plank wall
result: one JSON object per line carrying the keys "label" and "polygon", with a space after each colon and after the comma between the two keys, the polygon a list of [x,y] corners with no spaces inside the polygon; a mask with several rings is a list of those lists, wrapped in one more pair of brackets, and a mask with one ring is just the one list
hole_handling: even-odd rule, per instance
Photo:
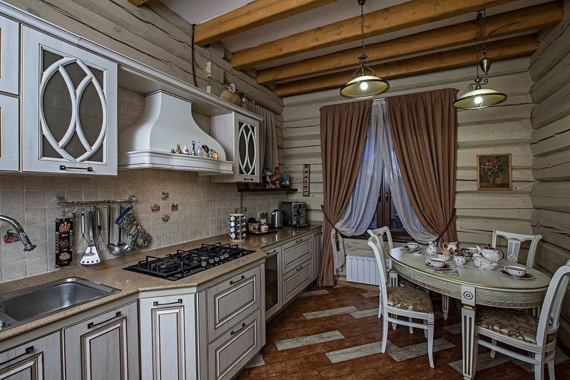
{"label": "small framed floral painting on the plank wall", "polygon": [[477,190],[512,190],[511,153],[477,155]]}

